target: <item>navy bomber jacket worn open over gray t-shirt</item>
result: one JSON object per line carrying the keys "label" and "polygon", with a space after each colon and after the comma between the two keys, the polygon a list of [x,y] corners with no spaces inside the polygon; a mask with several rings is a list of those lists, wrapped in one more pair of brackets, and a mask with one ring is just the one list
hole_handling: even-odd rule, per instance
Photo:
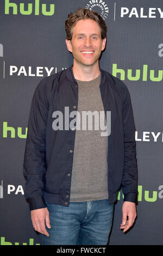
{"label": "navy bomber jacket worn open over gray t-shirt", "polygon": [[[135,124],[130,94],[118,78],[101,70],[99,85],[104,111],[111,111],[108,136],[109,203],[122,186],[124,201],[137,203]],[[69,206],[76,129],[54,130],[53,112],[78,109],[78,84],[72,66],[43,78],[36,87],[30,107],[23,174],[24,196],[30,210],[49,203]],[[71,120],[72,118],[70,118]],[[63,126],[64,127],[64,126]]]}

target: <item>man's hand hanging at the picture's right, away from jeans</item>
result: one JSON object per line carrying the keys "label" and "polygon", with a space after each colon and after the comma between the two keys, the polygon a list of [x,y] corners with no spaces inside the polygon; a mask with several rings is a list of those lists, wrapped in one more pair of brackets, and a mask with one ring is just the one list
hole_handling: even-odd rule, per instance
{"label": "man's hand hanging at the picture's right, away from jeans", "polygon": [[137,215],[135,203],[125,201],[122,206],[122,214],[123,217],[120,228],[123,229],[123,232],[126,232],[134,224]]}

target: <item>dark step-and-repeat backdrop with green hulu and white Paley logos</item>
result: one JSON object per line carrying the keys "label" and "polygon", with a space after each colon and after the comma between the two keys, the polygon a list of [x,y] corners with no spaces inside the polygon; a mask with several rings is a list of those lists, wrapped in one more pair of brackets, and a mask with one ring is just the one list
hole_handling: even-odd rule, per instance
{"label": "dark step-and-repeat backdrop with green hulu and white Paley logos", "polygon": [[40,245],[24,199],[29,109],[42,78],[72,65],[65,20],[78,7],[108,26],[100,66],[126,83],[136,125],[137,219],[123,234],[120,191],[109,245],[163,245],[162,0],[1,0],[0,245]]}

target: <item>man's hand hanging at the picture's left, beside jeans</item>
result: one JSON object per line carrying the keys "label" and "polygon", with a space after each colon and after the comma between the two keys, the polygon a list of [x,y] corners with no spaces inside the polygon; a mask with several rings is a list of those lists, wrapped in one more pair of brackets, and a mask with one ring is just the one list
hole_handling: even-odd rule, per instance
{"label": "man's hand hanging at the picture's left, beside jeans", "polygon": [[47,228],[51,228],[49,212],[47,208],[32,210],[31,220],[36,231],[43,235],[49,236],[45,227],[46,224]]}

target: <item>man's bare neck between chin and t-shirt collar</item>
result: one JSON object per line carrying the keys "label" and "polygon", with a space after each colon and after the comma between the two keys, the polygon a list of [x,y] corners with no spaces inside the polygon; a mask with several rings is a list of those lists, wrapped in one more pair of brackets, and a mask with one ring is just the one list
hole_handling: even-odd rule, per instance
{"label": "man's bare neck between chin and t-shirt collar", "polygon": [[74,60],[72,70],[74,78],[80,81],[91,81],[100,74],[98,60],[95,64],[90,66],[77,63],[76,60]]}

